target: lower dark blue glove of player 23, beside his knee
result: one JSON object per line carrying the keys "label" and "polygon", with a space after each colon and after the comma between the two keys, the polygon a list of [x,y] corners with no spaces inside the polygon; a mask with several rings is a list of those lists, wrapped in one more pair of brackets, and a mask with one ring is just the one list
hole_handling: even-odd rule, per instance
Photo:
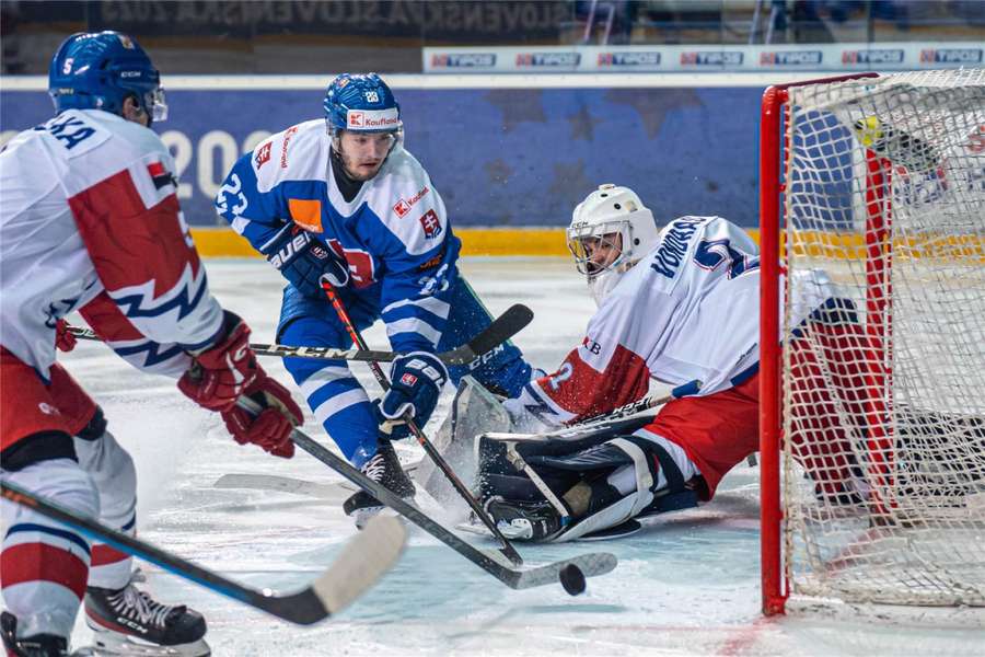
{"label": "lower dark blue glove of player 23, beside his knee", "polygon": [[409,433],[404,422],[408,412],[417,426],[428,424],[441,387],[448,381],[448,369],[433,354],[412,351],[393,361],[390,377],[390,391],[373,408],[383,436],[398,440]]}

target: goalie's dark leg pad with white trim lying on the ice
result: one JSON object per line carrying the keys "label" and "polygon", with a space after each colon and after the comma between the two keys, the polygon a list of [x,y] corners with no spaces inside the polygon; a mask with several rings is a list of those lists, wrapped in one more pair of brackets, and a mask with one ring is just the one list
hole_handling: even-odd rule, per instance
{"label": "goalie's dark leg pad with white trim lying on the ice", "polygon": [[707,486],[674,442],[633,417],[564,436],[478,438],[483,504],[510,539],[561,542],[613,538],[634,520],[697,506]]}

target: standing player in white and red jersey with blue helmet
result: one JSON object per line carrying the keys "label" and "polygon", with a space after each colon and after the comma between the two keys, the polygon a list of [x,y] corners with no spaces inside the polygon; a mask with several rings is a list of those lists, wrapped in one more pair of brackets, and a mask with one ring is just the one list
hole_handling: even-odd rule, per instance
{"label": "standing player in white and red jersey with blue helmet", "polygon": [[[147,54],[116,32],[74,34],[53,58],[49,93],[55,118],[0,152],[0,475],[132,533],[134,462],[56,362],[56,341],[72,342],[65,315],[80,311],[129,361],[177,378],[240,442],[289,457],[302,414],[257,364],[248,326],[209,293],[174,163],[149,129],[166,105]],[[265,406],[256,418],[236,408],[242,394]],[[2,517],[9,654],[67,655],[83,597],[97,646],[209,654],[201,614],[137,588],[128,555],[10,502]]]}

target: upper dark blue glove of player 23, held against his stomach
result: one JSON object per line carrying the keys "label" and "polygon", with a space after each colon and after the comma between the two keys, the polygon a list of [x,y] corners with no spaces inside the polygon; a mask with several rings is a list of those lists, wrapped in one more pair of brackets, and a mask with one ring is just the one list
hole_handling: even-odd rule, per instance
{"label": "upper dark blue glove of player 23, held against his stomach", "polygon": [[323,278],[337,288],[349,284],[349,264],[293,223],[285,226],[259,251],[305,297],[324,298]]}

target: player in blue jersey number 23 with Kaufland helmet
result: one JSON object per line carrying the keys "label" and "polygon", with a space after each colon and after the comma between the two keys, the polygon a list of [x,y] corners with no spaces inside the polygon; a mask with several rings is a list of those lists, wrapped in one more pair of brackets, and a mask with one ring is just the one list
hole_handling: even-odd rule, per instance
{"label": "player in blue jersey number 23 with Kaufland helmet", "polygon": [[[408,435],[405,413],[424,426],[448,379],[457,383],[466,373],[514,396],[531,368],[509,344],[472,368],[447,369],[434,356],[491,321],[459,273],[461,242],[444,201],[403,148],[401,107],[379,76],[338,76],[324,107],[324,119],[292,126],[241,158],[216,205],[289,283],[280,343],[350,344],[324,279],[338,289],[357,328],[378,319],[386,324],[393,349],[406,356],[393,364],[393,388],[374,402],[345,361],[286,358],[285,366],[346,458],[412,497],[414,484],[390,442]],[[346,503],[359,526],[379,508],[366,493]]]}

